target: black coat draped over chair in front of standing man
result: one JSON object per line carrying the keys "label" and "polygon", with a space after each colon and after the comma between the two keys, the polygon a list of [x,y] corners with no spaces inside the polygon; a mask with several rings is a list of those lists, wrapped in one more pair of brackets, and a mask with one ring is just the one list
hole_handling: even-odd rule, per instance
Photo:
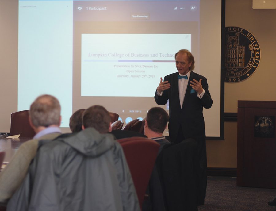
{"label": "black coat draped over chair in front of standing man", "polygon": [[197,211],[197,142],[167,144],[156,159],[167,211]]}

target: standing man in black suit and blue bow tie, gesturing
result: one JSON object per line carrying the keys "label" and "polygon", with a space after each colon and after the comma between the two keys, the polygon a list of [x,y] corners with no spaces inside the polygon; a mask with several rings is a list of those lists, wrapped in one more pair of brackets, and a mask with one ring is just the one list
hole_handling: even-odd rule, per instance
{"label": "standing man in black suit and blue bow tie, gesturing", "polygon": [[162,78],[155,92],[155,102],[165,105],[169,100],[169,134],[175,144],[187,138],[198,143],[201,172],[199,177],[198,205],[204,204],[207,186],[207,159],[203,107],[211,108],[213,100],[208,90],[207,79],[194,70],[194,56],[183,49],[175,54],[178,72]]}

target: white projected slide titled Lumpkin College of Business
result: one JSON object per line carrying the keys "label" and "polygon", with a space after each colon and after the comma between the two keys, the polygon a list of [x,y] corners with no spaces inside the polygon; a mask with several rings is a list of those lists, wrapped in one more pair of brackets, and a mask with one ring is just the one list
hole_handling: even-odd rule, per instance
{"label": "white projected slide titled Lumpkin College of Business", "polygon": [[82,34],[81,95],[152,97],[156,81],[174,71],[179,43],[190,50],[191,35]]}

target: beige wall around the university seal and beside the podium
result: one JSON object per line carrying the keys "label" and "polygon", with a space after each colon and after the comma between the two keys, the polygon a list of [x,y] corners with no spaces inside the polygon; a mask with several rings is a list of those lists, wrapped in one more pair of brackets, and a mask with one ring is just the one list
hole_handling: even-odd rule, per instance
{"label": "beige wall around the university seal and beside the podium", "polygon": [[[260,45],[261,60],[248,79],[225,83],[224,112],[237,112],[238,100],[275,101],[276,10],[253,10],[252,0],[226,0],[225,26],[252,33]],[[207,140],[208,167],[236,168],[237,123],[225,122],[224,127],[224,141]]]}

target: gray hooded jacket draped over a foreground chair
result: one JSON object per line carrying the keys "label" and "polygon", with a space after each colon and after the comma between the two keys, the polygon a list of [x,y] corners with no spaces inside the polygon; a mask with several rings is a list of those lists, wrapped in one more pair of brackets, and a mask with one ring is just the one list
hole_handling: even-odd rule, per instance
{"label": "gray hooded jacket draped over a foreground chair", "polygon": [[87,128],[39,142],[29,173],[7,210],[138,211],[140,207],[121,145],[111,134]]}

